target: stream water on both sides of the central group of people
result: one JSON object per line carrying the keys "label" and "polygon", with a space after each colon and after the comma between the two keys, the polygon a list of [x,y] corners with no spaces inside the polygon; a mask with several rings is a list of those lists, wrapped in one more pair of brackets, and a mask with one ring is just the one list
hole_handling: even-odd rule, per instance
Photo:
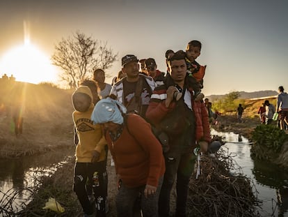
{"label": "stream water on both sides of the central group of people", "polygon": [[[232,154],[243,174],[253,180],[257,197],[262,200],[262,209],[259,209],[261,216],[288,217],[288,172],[271,163],[250,158],[251,144],[245,137],[215,130],[211,133],[225,137],[227,142],[223,149]],[[21,202],[26,201],[27,197],[22,189],[37,184],[40,175],[52,174],[72,153],[71,150],[61,149],[40,156],[0,159],[0,206],[5,204],[4,198],[13,190],[19,190],[17,204],[13,204],[13,209],[19,209]]]}

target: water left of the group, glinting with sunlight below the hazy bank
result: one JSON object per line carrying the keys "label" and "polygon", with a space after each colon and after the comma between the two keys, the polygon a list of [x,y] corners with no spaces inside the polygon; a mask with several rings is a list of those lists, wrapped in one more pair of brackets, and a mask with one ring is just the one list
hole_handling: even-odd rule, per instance
{"label": "water left of the group, glinting with sunlight below the hazy bank", "polygon": [[13,210],[19,210],[19,204],[30,197],[29,192],[24,189],[38,185],[41,176],[53,174],[73,154],[74,147],[71,147],[39,156],[0,159],[0,206],[6,203],[8,195],[13,195],[17,196],[15,204],[12,204]]}

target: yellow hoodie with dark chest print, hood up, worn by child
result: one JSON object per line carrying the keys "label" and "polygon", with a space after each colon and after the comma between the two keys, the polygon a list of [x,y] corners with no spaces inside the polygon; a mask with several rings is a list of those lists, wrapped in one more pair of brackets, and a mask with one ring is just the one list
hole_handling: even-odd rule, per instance
{"label": "yellow hoodie with dark chest print, hood up, worn by child", "polygon": [[[93,95],[89,87],[81,86],[75,93],[85,93],[90,96],[91,102],[93,102]],[[73,105],[74,106],[74,105]],[[98,151],[102,161],[106,158],[106,151],[104,149],[107,144],[105,137],[102,133],[102,127],[99,124],[93,124],[90,117],[93,112],[94,105],[90,104],[89,109],[86,112],[79,112],[75,110],[72,114],[74,126],[77,131],[79,142],[76,147],[76,161],[79,163],[90,163],[92,160],[92,151]]]}

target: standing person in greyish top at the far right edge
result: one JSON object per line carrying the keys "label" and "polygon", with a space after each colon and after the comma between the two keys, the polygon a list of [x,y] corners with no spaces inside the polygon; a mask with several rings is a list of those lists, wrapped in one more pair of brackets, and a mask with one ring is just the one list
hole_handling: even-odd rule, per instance
{"label": "standing person in greyish top at the far right edge", "polygon": [[284,92],[284,88],[278,88],[279,94],[277,97],[276,112],[280,114],[280,128],[285,129],[285,123],[288,124],[288,94]]}

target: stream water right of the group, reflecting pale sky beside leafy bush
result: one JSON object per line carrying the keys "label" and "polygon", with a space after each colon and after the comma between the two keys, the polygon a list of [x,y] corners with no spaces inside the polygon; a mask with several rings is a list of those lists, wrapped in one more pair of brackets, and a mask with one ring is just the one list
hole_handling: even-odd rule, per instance
{"label": "stream water right of the group, reflecting pale sky beside leafy bush", "polygon": [[[257,197],[259,200],[262,200],[263,210],[259,210],[261,216],[271,216],[273,209],[276,209],[275,216],[288,217],[288,204],[286,202],[288,201],[288,195],[282,195],[282,200],[285,202],[282,204],[281,211],[284,211],[284,214],[279,214],[278,208],[275,208],[277,203],[277,188],[288,186],[287,172],[281,170],[277,165],[250,158],[251,146],[245,137],[242,137],[242,142],[238,142],[239,135],[234,133],[218,133],[216,130],[212,130],[211,134],[225,137],[225,141],[229,141],[225,143],[222,149],[228,151],[233,156],[233,160],[241,167],[246,177],[253,179],[258,192]],[[239,172],[239,170],[235,170],[234,172]]]}

